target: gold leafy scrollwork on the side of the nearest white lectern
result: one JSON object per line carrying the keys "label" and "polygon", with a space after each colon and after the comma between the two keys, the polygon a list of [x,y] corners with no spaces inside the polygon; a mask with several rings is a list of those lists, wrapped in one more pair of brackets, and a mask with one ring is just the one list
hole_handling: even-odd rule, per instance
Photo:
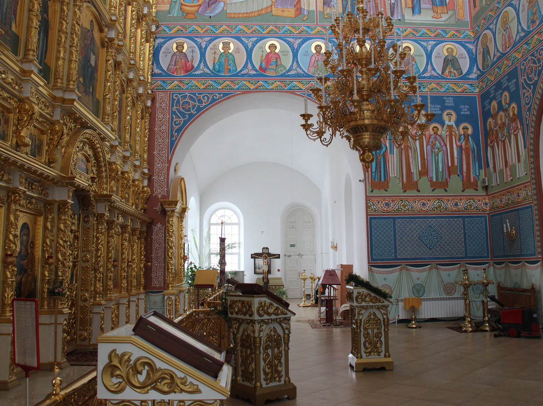
{"label": "gold leafy scrollwork on the side of the nearest white lectern", "polygon": [[188,382],[186,376],[179,377],[171,370],[157,367],[148,357],[141,356],[132,361],[131,356],[131,352],[119,355],[116,349],[108,354],[109,361],[102,370],[102,382],[112,394],[121,394],[127,388],[139,394],[148,394],[149,391],[162,395],[201,394],[199,386]]}

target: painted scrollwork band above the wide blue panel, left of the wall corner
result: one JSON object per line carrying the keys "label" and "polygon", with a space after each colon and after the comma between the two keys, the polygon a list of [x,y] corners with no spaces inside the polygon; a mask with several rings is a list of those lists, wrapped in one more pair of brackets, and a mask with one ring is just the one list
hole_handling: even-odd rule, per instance
{"label": "painted scrollwork band above the wide blue panel, left of the wall corner", "polygon": [[368,213],[486,213],[488,199],[481,198],[368,198]]}

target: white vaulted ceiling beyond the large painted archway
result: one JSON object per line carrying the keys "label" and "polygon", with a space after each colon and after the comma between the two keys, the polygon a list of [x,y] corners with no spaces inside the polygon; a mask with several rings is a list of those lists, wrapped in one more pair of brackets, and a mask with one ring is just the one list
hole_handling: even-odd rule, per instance
{"label": "white vaulted ceiling beyond the large painted archway", "polygon": [[[300,127],[303,110],[304,100],[293,94],[252,93],[226,99],[187,129],[172,162],[182,167],[186,154],[192,157],[200,191],[217,176],[257,162],[292,167],[321,188],[327,148],[306,137]],[[310,110],[316,115],[313,105]],[[346,145],[343,140],[335,142]]]}

